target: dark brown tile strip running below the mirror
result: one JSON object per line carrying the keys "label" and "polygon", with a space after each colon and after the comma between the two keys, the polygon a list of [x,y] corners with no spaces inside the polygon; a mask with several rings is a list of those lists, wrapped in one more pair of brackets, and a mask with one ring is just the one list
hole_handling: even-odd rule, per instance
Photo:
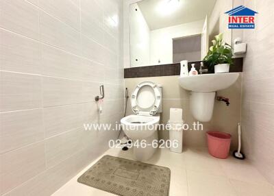
{"label": "dark brown tile strip running below the mirror", "polygon": [[[195,63],[196,70],[200,69],[200,62],[188,62],[188,70],[191,68],[191,64]],[[242,58],[234,58],[234,65],[230,66],[229,72],[242,72]],[[124,77],[158,77],[168,75],[179,75],[180,64],[160,64],[153,66],[139,66],[124,69]]]}

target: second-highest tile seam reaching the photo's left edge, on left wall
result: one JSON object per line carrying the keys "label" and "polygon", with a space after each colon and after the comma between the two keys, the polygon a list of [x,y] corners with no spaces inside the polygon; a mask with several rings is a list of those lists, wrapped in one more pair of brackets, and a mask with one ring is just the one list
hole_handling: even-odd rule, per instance
{"label": "second-highest tile seam reaching the photo's left edge, on left wall", "polygon": [[[34,75],[34,76],[38,76],[38,77],[51,77],[51,78],[56,78],[56,79],[65,79],[65,80],[73,80],[73,81],[78,81],[78,82],[90,82],[90,83],[97,83],[97,84],[110,84],[110,85],[114,85],[114,86],[122,86],[122,84],[116,84],[114,83],[110,83],[110,82],[100,82],[100,81],[91,81],[91,80],[86,80],[86,79],[73,79],[73,78],[69,78],[69,77],[56,77],[56,76],[51,76],[51,75],[42,75],[42,74],[36,74],[36,73],[25,73],[25,72],[18,72],[18,71],[7,71],[7,70],[3,70],[0,69],[0,72],[3,73],[15,73],[15,74],[22,74],[22,75]],[[123,79],[123,78],[119,78],[119,79]]]}

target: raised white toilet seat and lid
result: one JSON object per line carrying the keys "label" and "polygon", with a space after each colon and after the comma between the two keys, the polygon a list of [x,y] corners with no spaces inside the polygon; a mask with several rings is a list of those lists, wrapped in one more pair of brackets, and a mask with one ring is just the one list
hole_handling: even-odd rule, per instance
{"label": "raised white toilet seat and lid", "polygon": [[153,82],[141,82],[132,93],[132,110],[135,114],[154,115],[162,100],[160,88]]}

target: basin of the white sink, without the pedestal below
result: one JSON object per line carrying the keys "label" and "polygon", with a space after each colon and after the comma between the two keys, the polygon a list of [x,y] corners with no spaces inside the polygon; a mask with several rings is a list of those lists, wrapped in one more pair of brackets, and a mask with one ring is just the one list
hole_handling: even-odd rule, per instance
{"label": "basin of the white sink, without the pedestal below", "polygon": [[179,77],[179,85],[194,92],[215,92],[232,86],[239,73],[212,73]]}

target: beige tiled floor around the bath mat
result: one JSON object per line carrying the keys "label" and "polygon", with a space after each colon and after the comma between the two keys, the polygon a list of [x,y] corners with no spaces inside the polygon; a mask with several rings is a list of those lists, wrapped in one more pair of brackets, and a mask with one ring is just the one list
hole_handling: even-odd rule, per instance
{"label": "beige tiled floor around the bath mat", "polygon": [[[132,159],[132,151],[109,149],[104,155]],[[99,157],[101,158],[101,157]],[[97,160],[99,160],[99,158]],[[95,160],[95,162],[97,161]],[[110,196],[112,194],[79,184],[77,178],[95,162],[56,191],[53,196]],[[207,149],[184,149],[175,154],[169,149],[158,149],[147,161],[171,169],[171,196],[270,196],[274,187],[247,160],[213,158]]]}

